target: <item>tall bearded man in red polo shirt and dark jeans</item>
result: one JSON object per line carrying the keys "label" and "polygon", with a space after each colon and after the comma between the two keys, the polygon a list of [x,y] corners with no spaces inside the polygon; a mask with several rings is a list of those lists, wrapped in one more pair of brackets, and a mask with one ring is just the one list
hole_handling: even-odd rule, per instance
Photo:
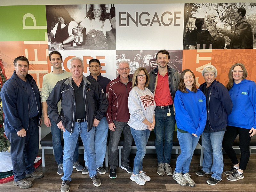
{"label": "tall bearded man in red polo shirt and dark jeans", "polygon": [[[172,153],[172,139],[175,129],[175,116],[173,112],[173,100],[178,90],[180,73],[169,67],[169,52],[160,50],[156,54],[158,66],[149,73],[150,81],[148,88],[154,93],[156,102],[154,132],[156,134],[157,173],[161,176],[166,172],[172,175],[170,159]],[[164,143],[164,145],[163,145]]]}

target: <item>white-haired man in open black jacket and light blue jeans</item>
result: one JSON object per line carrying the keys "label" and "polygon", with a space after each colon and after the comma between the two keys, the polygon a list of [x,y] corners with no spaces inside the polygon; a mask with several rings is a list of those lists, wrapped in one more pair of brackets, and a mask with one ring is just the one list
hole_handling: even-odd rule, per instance
{"label": "white-haired man in open black jacket and light blue jeans", "polygon": [[[71,77],[59,81],[46,100],[49,117],[63,130],[64,155],[61,178],[61,192],[70,189],[73,170],[73,154],[76,141],[80,135],[87,154],[89,176],[93,185],[99,187],[100,179],[96,171],[96,154],[94,150],[95,126],[105,116],[108,101],[100,85],[87,79],[84,75],[83,60],[73,57],[70,60]],[[61,99],[61,111],[58,113],[58,102]],[[97,108],[97,104],[99,105]]]}

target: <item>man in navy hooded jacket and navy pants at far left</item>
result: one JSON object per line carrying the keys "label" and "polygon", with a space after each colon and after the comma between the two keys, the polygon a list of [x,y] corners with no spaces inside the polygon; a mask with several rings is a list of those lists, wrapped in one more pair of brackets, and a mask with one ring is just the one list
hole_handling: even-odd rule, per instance
{"label": "man in navy hooded jacket and navy pants at far left", "polygon": [[30,188],[33,183],[27,177],[44,177],[35,171],[38,154],[39,128],[42,124],[42,104],[35,80],[28,74],[28,59],[24,56],[13,61],[14,72],[1,89],[4,131],[11,141],[13,185]]}

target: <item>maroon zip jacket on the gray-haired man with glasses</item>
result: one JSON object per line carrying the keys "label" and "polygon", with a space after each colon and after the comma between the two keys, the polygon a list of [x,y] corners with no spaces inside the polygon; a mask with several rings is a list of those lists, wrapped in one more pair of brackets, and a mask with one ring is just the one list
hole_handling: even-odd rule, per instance
{"label": "maroon zip jacket on the gray-haired man with glasses", "polygon": [[106,117],[108,124],[113,123],[113,120],[128,122],[130,119],[128,96],[132,90],[132,78],[128,76],[128,80],[129,82],[125,85],[118,76],[107,85],[108,110]]}

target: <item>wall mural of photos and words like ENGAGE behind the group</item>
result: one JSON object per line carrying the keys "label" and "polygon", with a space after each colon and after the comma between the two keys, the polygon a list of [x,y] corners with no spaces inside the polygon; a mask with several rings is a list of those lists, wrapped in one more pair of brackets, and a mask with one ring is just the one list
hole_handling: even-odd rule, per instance
{"label": "wall mural of photos and words like ENGAGE behind the group", "polygon": [[[241,20],[238,7],[246,11]],[[8,18],[0,20],[0,72],[10,78],[13,60],[24,55],[39,88],[52,70],[53,50],[62,54],[66,71],[73,56],[81,57],[85,76],[89,60],[99,59],[102,75],[111,80],[120,60],[129,62],[131,75],[141,66],[149,72],[157,66],[156,52],[166,49],[168,65],[191,69],[197,86],[205,65],[214,65],[216,80],[227,84],[236,62],[256,81],[256,3],[27,5],[0,6],[0,12]]]}

